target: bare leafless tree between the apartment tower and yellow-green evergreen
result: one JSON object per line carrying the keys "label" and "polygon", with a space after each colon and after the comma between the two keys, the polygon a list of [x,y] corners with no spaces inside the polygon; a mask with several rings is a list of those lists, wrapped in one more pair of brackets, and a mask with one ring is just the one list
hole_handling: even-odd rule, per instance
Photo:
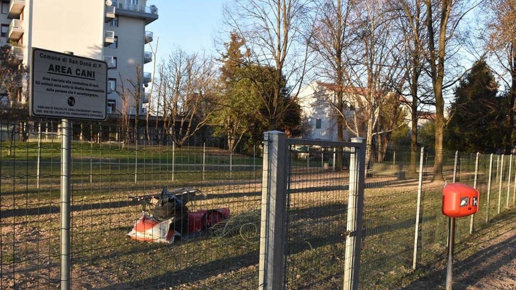
{"label": "bare leafless tree between the apartment tower and yellow-green evergreen", "polygon": [[181,146],[217,109],[213,101],[217,71],[212,58],[177,50],[158,72],[164,131],[172,131],[172,140]]}

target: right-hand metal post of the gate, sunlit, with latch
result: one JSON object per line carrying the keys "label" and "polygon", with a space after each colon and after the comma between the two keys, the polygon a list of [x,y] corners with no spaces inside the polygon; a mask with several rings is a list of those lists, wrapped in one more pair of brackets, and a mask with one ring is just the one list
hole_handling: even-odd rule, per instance
{"label": "right-hand metal post of the gate, sunlit, with latch", "polygon": [[351,138],[360,143],[349,164],[349,195],[344,254],[344,290],[358,290],[360,273],[360,246],[362,241],[362,214],[364,211],[365,138]]}

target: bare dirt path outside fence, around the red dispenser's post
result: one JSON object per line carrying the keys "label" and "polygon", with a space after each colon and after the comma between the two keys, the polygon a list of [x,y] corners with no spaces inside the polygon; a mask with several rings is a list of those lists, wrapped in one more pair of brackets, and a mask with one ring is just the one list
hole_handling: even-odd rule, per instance
{"label": "bare dirt path outside fence, around the red dispenser's post", "polygon": [[[455,247],[454,290],[516,289],[516,208],[493,219]],[[445,289],[446,261],[405,290]]]}

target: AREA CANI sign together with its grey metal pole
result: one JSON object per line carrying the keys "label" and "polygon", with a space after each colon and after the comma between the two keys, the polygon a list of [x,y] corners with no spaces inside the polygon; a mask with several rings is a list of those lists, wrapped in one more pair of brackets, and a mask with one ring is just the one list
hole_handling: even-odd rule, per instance
{"label": "AREA CANI sign together with its grey metal pole", "polygon": [[[69,290],[71,284],[70,178],[72,168],[72,124],[70,120],[106,120],[107,66],[101,60],[74,56],[71,52],[60,53],[37,47],[32,47],[31,56],[29,66],[30,116],[61,120],[60,286],[61,290]],[[63,86],[63,84],[65,85]],[[90,163],[90,182],[91,174]]]}

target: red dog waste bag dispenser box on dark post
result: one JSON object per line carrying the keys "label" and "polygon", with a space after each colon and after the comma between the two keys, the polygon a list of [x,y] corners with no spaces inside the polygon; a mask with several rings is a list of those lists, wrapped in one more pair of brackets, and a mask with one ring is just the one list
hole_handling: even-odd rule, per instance
{"label": "red dog waste bag dispenser box on dark post", "polygon": [[478,211],[478,190],[462,183],[451,183],[443,189],[443,215],[465,217]]}

